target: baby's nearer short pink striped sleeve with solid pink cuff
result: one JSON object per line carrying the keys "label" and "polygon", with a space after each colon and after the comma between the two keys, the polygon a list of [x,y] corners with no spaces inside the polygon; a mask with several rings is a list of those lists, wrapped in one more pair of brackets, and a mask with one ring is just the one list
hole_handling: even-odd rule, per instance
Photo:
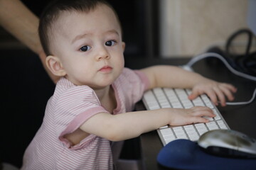
{"label": "baby's nearer short pink striped sleeve with solid pink cuff", "polygon": [[60,95],[55,103],[57,135],[74,132],[92,115],[107,112],[89,86],[73,86]]}

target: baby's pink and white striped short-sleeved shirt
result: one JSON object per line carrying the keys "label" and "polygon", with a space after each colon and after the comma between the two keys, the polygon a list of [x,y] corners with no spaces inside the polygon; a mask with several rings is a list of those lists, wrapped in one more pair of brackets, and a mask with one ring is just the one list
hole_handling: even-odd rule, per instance
{"label": "baby's pink and white striped short-sleeved shirt", "polygon": [[[112,84],[117,98],[113,114],[132,111],[148,83],[142,72],[124,68]],[[89,135],[72,146],[63,137],[102,112],[107,111],[89,86],[60,79],[48,101],[43,124],[26,149],[21,169],[113,169],[110,141]]]}

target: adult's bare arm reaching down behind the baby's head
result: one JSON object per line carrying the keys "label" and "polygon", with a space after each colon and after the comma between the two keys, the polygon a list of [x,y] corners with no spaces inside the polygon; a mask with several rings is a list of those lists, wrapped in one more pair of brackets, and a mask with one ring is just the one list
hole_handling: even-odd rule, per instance
{"label": "adult's bare arm reaching down behind the baby's head", "polygon": [[43,67],[50,78],[56,82],[58,77],[50,73],[46,67],[46,54],[38,36],[39,19],[21,1],[0,0],[0,25],[41,59]]}

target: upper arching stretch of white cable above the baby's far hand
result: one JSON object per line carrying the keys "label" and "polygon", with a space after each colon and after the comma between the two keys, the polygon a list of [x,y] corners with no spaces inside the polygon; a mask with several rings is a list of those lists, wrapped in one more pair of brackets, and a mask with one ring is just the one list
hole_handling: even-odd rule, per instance
{"label": "upper arching stretch of white cable above the baby's far hand", "polygon": [[207,57],[216,57],[216,58],[220,59],[225,64],[225,66],[228,67],[230,72],[233,72],[233,74],[238,75],[240,77],[244,77],[246,79],[250,79],[252,81],[256,81],[256,77],[253,77],[251,75],[248,75],[248,74],[245,74],[245,73],[242,73],[242,72],[238,72],[237,70],[233,69],[233,67],[231,67],[230,64],[221,55],[218,55],[217,53],[214,53],[214,52],[207,52],[207,53],[204,53],[202,55],[198,55],[196,57],[193,57],[186,64],[186,66],[191,67],[193,64],[195,64],[199,60],[202,60],[202,59],[207,58]]}

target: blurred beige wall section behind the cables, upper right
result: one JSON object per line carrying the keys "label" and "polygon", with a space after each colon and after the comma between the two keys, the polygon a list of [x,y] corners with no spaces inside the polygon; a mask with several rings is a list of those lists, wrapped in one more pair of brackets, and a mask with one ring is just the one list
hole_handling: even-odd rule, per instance
{"label": "blurred beige wall section behind the cables, upper right", "polygon": [[247,28],[245,0],[160,0],[159,8],[159,48],[165,57],[197,55]]}

